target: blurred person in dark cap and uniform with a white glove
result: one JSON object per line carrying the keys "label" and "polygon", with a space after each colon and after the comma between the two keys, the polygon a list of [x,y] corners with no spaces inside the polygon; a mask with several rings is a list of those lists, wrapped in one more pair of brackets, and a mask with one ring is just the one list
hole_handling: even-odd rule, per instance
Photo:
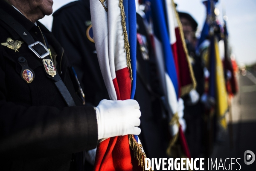
{"label": "blurred person in dark cap and uniform with a white glove", "polygon": [[184,119],[186,120],[186,139],[189,145],[190,153],[193,158],[200,157],[203,152],[203,113],[204,105],[200,98],[204,93],[204,65],[201,56],[196,53],[197,38],[195,32],[198,23],[186,12],[178,12],[182,24],[186,47],[189,53],[189,59],[195,74],[197,82],[196,90],[192,90],[188,95],[183,97],[184,100]]}

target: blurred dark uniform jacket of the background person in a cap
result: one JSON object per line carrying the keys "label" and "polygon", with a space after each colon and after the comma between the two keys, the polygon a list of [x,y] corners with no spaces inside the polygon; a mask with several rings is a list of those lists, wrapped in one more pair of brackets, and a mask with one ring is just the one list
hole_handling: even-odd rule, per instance
{"label": "blurred dark uniform jacket of the background person in a cap", "polygon": [[[197,82],[196,91],[201,97],[204,93],[204,65],[202,59],[195,52],[192,43],[186,41],[189,56],[192,58],[192,68]],[[184,116],[186,120],[186,140],[189,146],[190,154],[193,158],[200,157],[203,152],[203,114],[204,104],[199,100],[196,104],[188,104],[189,96],[183,97],[184,100]]]}

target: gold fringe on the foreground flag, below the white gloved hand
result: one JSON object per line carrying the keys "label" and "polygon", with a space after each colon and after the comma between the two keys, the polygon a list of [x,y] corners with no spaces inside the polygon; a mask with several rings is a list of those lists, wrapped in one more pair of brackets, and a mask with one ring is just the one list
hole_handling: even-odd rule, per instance
{"label": "gold fringe on the foreground flag, below the white gloved hand", "polygon": [[[141,167],[144,169],[145,168],[145,158],[146,154],[143,153],[142,151],[142,145],[138,144],[136,142],[136,140],[134,139],[133,135],[128,135],[129,138],[129,145],[131,147],[131,150],[134,153],[134,158],[136,158],[138,160],[139,165],[141,165]],[[148,165],[148,163],[147,163]],[[149,171],[153,171],[151,168],[149,169]]]}

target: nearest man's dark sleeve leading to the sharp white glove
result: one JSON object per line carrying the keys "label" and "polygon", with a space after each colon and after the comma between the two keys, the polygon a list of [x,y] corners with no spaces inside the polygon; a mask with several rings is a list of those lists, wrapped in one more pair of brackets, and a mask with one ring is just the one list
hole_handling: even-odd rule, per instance
{"label": "nearest man's dark sleeve leading to the sharp white glove", "polygon": [[5,61],[0,53],[0,157],[48,157],[96,148],[98,130],[93,106],[59,110],[17,105],[6,98],[5,79]]}

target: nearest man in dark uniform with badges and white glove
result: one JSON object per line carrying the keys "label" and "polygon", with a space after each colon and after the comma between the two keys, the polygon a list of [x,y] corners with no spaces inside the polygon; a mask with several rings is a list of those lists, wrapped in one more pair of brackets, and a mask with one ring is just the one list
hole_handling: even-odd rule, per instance
{"label": "nearest man in dark uniform with badges and white glove", "polygon": [[[52,0],[0,0],[0,170],[83,170],[99,139],[140,134],[137,101],[84,96],[64,49],[39,19]],[[86,95],[85,95],[86,97]]]}

